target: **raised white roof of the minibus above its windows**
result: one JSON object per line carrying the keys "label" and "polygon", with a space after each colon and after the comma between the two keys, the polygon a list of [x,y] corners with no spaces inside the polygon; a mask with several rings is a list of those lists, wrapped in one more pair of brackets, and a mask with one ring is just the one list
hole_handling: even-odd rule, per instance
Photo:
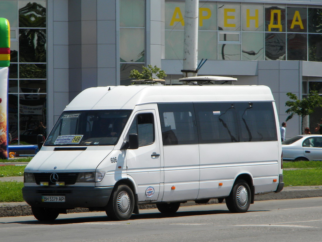
{"label": "raised white roof of the minibus above its windows", "polygon": [[85,89],[65,110],[133,109],[147,103],[273,100],[267,86],[105,86]]}

